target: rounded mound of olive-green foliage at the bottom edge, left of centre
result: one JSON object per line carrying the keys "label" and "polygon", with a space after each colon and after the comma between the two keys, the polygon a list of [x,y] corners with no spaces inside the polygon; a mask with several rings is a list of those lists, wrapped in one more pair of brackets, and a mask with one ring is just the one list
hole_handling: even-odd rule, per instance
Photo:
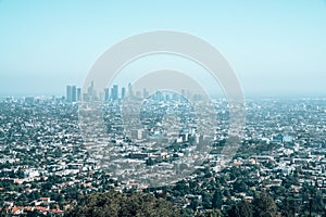
{"label": "rounded mound of olive-green foliage at the bottom edge, left of centre", "polygon": [[84,197],[82,203],[68,210],[65,216],[175,217],[180,216],[180,212],[173,207],[170,202],[163,199],[155,199],[151,194],[110,191]]}

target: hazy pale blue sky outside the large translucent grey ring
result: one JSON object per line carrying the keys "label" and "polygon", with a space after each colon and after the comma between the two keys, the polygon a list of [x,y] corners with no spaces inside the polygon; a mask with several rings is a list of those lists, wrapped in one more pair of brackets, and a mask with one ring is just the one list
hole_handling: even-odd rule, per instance
{"label": "hazy pale blue sky outside the large translucent grey ring", "polygon": [[158,29],[213,44],[244,95],[326,97],[325,0],[0,0],[0,95],[63,95],[112,44]]}

